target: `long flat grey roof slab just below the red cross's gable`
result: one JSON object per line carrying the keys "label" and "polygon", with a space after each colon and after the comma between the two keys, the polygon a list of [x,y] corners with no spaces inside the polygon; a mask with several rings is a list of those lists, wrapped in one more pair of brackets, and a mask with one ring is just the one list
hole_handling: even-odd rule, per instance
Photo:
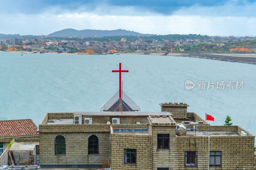
{"label": "long flat grey roof slab just below the red cross's gable", "polygon": [[74,112],[74,115],[90,115],[90,116],[154,116],[154,115],[168,115],[170,112]]}

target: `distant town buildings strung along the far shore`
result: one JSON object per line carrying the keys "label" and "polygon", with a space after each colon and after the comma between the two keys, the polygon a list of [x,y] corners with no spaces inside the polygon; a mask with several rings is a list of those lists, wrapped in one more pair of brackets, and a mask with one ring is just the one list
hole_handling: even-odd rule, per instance
{"label": "distant town buildings strung along the far shore", "polygon": [[[70,50],[70,49],[92,49],[96,53],[102,53],[107,49],[116,49],[117,51],[129,51],[129,50],[165,50],[172,51],[173,48],[177,46],[190,46],[195,45],[199,42],[216,42],[216,43],[232,43],[236,41],[252,39],[252,37],[220,37],[212,36],[210,39],[175,39],[175,40],[165,40],[161,41],[151,39],[145,40],[144,36],[135,36],[133,40],[127,40],[127,38],[121,38],[120,41],[108,40],[107,42],[99,41],[86,41],[85,37],[70,37],[70,38],[80,38],[80,41],[74,40],[42,40],[39,38],[34,39],[23,39],[22,37],[17,37],[15,39],[1,39],[0,45],[26,45],[26,48],[40,48],[40,49],[50,49],[50,50]],[[50,39],[50,38],[49,38]],[[30,47],[27,45],[31,45]]]}

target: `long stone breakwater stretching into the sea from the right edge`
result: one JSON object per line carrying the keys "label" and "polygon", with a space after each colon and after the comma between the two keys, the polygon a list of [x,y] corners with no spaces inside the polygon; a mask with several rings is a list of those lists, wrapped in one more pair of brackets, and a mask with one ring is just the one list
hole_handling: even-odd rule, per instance
{"label": "long stone breakwater stretching into the sea from the right edge", "polygon": [[[243,54],[241,54],[243,55]],[[237,63],[246,63],[246,64],[256,64],[256,58],[252,57],[237,57],[227,56],[227,55],[212,55],[212,54],[200,54],[200,53],[189,53],[184,55],[179,55],[182,57],[193,57],[193,58],[204,58],[211,60],[220,60],[226,62],[237,62]]]}

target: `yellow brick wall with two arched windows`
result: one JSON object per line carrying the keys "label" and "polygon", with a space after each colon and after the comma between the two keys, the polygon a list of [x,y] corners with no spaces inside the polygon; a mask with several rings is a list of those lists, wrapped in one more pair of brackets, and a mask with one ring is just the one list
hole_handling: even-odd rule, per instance
{"label": "yellow brick wall with two arched windows", "polygon": [[[66,138],[66,155],[54,155],[54,139]],[[99,137],[99,155],[88,155],[88,138]],[[40,133],[40,165],[102,164],[110,159],[110,133]]]}

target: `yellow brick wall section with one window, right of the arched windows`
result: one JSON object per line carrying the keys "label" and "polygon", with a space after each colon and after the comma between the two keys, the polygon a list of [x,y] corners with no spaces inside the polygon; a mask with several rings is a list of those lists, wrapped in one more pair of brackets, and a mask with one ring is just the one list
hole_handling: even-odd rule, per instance
{"label": "yellow brick wall section with one window, right of the arched windows", "polygon": [[[117,150],[116,152],[115,149]],[[136,149],[136,165],[124,164],[124,149]],[[111,170],[128,169],[152,169],[152,136],[121,134],[119,142],[119,134],[111,134]]]}

